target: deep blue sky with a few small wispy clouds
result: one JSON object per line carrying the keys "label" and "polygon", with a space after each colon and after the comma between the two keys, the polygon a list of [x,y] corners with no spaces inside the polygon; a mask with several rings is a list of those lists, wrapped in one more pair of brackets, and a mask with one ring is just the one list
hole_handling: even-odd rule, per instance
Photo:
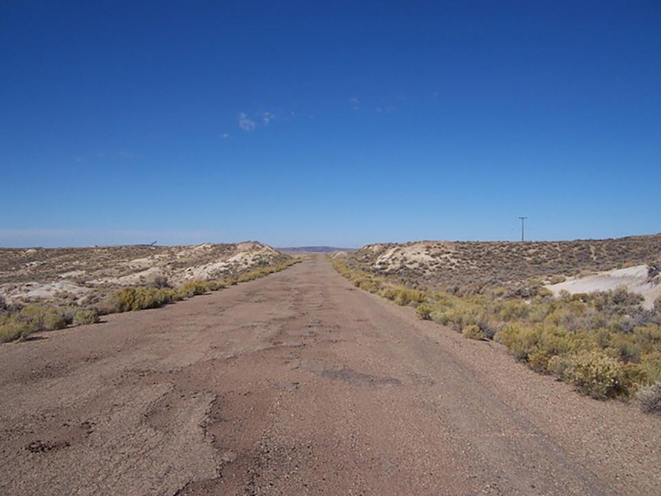
{"label": "deep blue sky with a few small wispy clouds", "polygon": [[0,3],[0,245],[661,231],[661,3]]}

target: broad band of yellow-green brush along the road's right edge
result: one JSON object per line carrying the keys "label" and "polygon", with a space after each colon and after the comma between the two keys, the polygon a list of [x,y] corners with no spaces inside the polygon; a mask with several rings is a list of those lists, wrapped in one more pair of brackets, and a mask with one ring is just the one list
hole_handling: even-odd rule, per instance
{"label": "broad band of yellow-green brush along the road's right edge", "polygon": [[539,282],[525,291],[488,287],[459,296],[412,289],[333,260],[356,287],[400,305],[420,318],[474,340],[496,340],[534,371],[554,375],[598,399],[638,393],[645,411],[661,414],[661,300],[654,309],[624,289],[559,298]]}

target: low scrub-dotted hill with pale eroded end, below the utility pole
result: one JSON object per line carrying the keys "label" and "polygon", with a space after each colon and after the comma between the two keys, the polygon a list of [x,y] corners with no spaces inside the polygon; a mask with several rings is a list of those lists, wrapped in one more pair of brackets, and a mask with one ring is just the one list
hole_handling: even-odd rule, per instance
{"label": "low scrub-dotted hill with pale eroded end, below the utility pole", "polygon": [[361,269],[452,289],[520,285],[530,278],[576,276],[661,258],[661,234],[547,242],[417,241],[367,245],[350,258]]}

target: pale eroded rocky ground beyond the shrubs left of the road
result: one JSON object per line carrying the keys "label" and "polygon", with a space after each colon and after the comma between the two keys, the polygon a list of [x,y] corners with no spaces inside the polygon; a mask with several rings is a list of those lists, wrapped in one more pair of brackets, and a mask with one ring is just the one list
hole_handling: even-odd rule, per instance
{"label": "pale eroded rocky ground beyond the shrubs left of the road", "polygon": [[288,258],[254,241],[174,247],[0,249],[0,296],[10,303],[80,303],[118,287],[178,286]]}

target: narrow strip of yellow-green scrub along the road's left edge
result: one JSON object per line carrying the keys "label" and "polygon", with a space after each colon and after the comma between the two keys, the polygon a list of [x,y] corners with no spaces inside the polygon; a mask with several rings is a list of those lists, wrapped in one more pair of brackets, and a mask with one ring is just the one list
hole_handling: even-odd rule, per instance
{"label": "narrow strip of yellow-green scrub along the road's left edge", "polygon": [[286,269],[297,262],[291,258],[276,265],[238,273],[222,280],[191,281],[177,288],[167,287],[167,281],[154,281],[151,286],[118,289],[94,307],[58,307],[28,304],[12,307],[0,299],[0,343],[26,338],[39,331],[63,329],[69,325],[94,324],[98,316],[162,307],[209,291],[218,291],[239,282],[246,282]]}

